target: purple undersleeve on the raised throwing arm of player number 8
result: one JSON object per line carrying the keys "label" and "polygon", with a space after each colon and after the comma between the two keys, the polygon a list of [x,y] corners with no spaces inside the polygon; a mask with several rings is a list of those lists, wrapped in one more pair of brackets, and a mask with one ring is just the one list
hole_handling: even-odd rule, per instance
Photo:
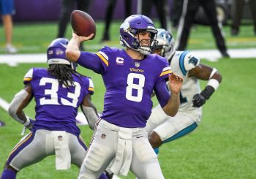
{"label": "purple undersleeve on the raised throwing arm of player number 8", "polygon": [[104,72],[101,60],[95,53],[81,52],[77,63],[80,64],[80,66],[83,66],[86,69],[91,69],[96,73],[101,74]]}

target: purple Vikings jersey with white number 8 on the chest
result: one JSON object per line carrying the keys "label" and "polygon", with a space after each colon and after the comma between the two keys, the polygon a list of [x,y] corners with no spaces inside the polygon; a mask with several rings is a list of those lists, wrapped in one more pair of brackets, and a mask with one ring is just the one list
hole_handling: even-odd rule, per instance
{"label": "purple Vikings jersey with white number 8 on the chest", "polygon": [[152,91],[171,73],[167,60],[148,55],[139,61],[124,49],[110,47],[103,47],[96,54],[104,67],[102,78],[106,87],[101,118],[122,127],[146,126],[153,105]]}

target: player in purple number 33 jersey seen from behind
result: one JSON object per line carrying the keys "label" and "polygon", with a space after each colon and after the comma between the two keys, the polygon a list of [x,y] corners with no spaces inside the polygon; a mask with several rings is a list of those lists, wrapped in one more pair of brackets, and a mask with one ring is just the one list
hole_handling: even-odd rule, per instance
{"label": "player in purple number 33 jersey seen from behind", "polygon": [[[76,64],[67,60],[68,42],[64,38],[51,42],[47,50],[48,69],[29,69],[23,80],[24,88],[12,99],[10,115],[31,132],[12,149],[1,179],[14,179],[24,167],[54,154],[56,170],[67,170],[70,163],[80,167],[83,162],[87,148],[75,123],[78,107],[87,118],[98,116],[91,102],[94,84],[89,77],[76,72]],[[23,112],[33,98],[35,121]],[[100,178],[107,177],[102,174]]]}

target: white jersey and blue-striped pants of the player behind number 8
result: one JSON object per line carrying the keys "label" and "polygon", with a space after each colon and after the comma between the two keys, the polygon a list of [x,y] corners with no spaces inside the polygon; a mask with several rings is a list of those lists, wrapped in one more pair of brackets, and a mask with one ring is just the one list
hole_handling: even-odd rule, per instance
{"label": "white jersey and blue-striped pants of the player behind number 8", "polygon": [[200,93],[196,77],[188,77],[188,72],[200,64],[200,59],[189,51],[176,51],[170,61],[170,68],[176,75],[183,77],[178,113],[170,117],[158,104],[152,110],[146,125],[146,131],[156,132],[162,141],[172,141],[192,132],[200,123],[202,107],[193,107],[193,96]]}

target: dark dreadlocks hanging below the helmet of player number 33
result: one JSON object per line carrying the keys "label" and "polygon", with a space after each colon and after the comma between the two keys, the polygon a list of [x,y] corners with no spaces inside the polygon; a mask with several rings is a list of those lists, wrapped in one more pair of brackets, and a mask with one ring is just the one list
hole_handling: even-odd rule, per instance
{"label": "dark dreadlocks hanging below the helmet of player number 33", "polygon": [[69,85],[75,86],[72,74],[77,75],[77,73],[71,66],[67,64],[50,64],[48,72],[67,88],[69,88]]}

